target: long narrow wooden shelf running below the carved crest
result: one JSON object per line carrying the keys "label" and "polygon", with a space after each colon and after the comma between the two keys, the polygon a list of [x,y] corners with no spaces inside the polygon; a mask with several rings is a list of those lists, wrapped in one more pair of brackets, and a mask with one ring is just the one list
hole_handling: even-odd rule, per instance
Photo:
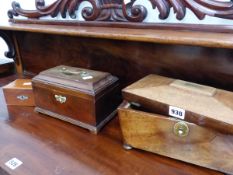
{"label": "long narrow wooden shelf running below the carved crest", "polygon": [[2,23],[0,25],[0,29],[163,44],[233,48],[233,35],[231,33],[165,29],[129,29],[116,27],[15,24],[9,22]]}

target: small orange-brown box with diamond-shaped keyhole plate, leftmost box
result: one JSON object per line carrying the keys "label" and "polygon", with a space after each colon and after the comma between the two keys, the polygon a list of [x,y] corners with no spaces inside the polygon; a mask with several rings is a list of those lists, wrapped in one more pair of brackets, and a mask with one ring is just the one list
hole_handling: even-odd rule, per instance
{"label": "small orange-brown box with diamond-shaped keyhole plate, leftmost box", "polygon": [[7,105],[35,106],[31,79],[17,79],[2,89]]}

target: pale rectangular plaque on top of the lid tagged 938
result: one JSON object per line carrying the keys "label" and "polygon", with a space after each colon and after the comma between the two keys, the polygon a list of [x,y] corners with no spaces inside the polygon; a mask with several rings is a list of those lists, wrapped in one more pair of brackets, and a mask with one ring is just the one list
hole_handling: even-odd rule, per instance
{"label": "pale rectangular plaque on top of the lid tagged 938", "polygon": [[213,96],[216,92],[216,88],[204,86],[196,83],[190,83],[182,80],[175,80],[170,84],[170,86],[207,96]]}

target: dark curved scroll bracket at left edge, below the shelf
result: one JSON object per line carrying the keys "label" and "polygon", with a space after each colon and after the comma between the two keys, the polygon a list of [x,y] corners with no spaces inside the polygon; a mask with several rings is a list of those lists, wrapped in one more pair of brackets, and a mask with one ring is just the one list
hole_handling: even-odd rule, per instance
{"label": "dark curved scroll bracket at left edge, below the shelf", "polygon": [[14,44],[13,44],[13,41],[12,39],[10,38],[10,36],[3,32],[3,31],[0,31],[0,37],[6,42],[7,46],[8,46],[8,51],[5,52],[5,56],[7,58],[15,58],[15,47],[14,47]]}

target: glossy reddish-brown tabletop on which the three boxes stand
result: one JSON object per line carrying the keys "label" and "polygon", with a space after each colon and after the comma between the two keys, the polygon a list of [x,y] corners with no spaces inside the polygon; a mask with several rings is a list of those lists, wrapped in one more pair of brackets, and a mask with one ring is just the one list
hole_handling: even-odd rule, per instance
{"label": "glossy reddish-brown tabletop on which the three boxes stand", "polygon": [[[1,78],[0,85],[16,78]],[[11,106],[7,110],[2,91],[0,94],[1,172],[12,175],[220,174],[141,150],[124,150],[118,118],[96,136],[37,114],[32,107]],[[14,171],[4,165],[13,157],[23,161]]]}

